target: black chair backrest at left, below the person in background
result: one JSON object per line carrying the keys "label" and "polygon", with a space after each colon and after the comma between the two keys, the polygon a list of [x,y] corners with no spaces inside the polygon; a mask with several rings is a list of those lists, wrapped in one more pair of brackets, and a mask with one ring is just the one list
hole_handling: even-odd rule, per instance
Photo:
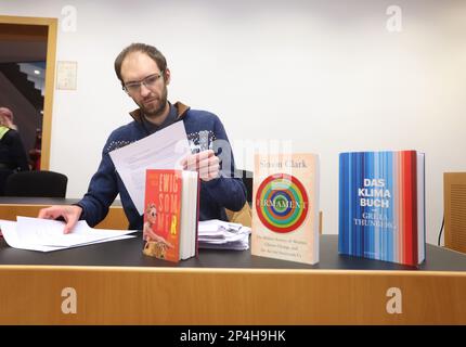
{"label": "black chair backrest at left, below the person in background", "polygon": [[21,171],[7,179],[5,196],[65,197],[68,178],[54,171]]}

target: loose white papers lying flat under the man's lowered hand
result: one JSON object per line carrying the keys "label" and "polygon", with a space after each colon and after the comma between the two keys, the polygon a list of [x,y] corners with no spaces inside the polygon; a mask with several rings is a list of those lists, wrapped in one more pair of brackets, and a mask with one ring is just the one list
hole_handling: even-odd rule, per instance
{"label": "loose white papers lying flat under the man's lowered hand", "polygon": [[60,250],[129,239],[134,236],[128,234],[135,232],[135,230],[94,230],[85,220],[80,220],[70,233],[64,234],[63,221],[29,217],[17,217],[16,220],[0,220],[3,237],[9,246],[29,250]]}

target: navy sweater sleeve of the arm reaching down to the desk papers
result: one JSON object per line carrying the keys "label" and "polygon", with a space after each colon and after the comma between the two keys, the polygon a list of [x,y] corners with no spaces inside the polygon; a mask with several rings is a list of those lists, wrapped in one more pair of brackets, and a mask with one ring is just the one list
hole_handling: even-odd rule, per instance
{"label": "navy sweater sleeve of the arm reaching down to the desk papers", "polygon": [[81,219],[90,227],[101,222],[108,208],[118,195],[117,174],[108,151],[108,142],[102,151],[102,159],[98,171],[92,176],[86,195],[76,205],[82,208]]}

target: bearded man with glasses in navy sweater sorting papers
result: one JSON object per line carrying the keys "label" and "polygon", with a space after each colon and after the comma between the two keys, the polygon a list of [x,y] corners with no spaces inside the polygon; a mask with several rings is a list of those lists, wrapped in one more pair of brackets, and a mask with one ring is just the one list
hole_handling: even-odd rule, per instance
{"label": "bearded man with glasses in navy sweater sorting papers", "polygon": [[129,229],[142,230],[143,216],[139,215],[115,171],[108,153],[176,121],[184,123],[190,144],[195,152],[183,164],[184,169],[199,172],[202,180],[199,219],[225,220],[225,208],[242,209],[246,202],[245,187],[241,179],[232,177],[233,155],[222,160],[228,165],[223,164],[220,168],[219,157],[215,154],[216,143],[221,143],[222,159],[224,153],[231,153],[223,125],[211,113],[191,110],[180,102],[174,104],[168,102],[167,86],[170,82],[170,70],[165,56],[152,46],[133,43],[116,57],[115,72],[122,89],[139,106],[130,113],[133,120],[111,133],[103,149],[99,169],[92,177],[83,198],[73,206],[41,209],[39,218],[64,218],[65,233],[72,231],[78,219],[85,219],[93,227],[105,218],[108,207],[119,193],[129,220]]}

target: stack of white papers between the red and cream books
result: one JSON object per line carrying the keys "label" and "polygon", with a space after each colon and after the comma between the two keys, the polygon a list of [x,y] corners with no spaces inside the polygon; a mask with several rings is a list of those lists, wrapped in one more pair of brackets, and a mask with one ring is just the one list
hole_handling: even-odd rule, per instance
{"label": "stack of white papers between the red and cream books", "polygon": [[199,221],[198,246],[216,249],[249,249],[250,228],[218,219]]}

